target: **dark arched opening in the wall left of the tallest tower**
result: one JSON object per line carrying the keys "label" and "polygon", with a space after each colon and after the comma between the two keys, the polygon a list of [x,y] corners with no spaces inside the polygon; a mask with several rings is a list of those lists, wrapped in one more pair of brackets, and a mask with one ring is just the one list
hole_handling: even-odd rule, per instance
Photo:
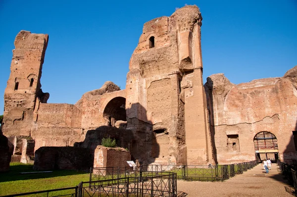
{"label": "dark arched opening in the wall left of the tallest tower", "polygon": [[108,126],[114,126],[118,120],[127,121],[125,104],[126,99],[123,97],[113,98],[106,104],[103,117]]}

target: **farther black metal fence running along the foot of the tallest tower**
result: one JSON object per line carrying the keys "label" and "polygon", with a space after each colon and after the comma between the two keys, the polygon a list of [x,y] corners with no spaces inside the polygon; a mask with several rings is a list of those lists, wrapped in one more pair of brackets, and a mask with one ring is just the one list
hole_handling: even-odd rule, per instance
{"label": "farther black metal fence running along the foot of the tallest tower", "polygon": [[242,174],[244,171],[257,165],[256,161],[235,163],[229,165],[142,165],[136,169],[132,167],[109,167],[109,168],[91,168],[90,181],[141,177],[143,173],[149,172],[172,172],[176,173],[177,179],[188,181],[223,181],[233,177],[236,174]]}

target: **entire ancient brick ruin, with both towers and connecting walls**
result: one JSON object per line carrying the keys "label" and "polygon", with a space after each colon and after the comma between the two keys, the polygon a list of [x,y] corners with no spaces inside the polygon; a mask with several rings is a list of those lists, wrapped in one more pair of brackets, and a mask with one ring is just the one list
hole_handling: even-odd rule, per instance
{"label": "entire ancient brick ruin, with both towers and connecting walls", "polygon": [[[49,36],[21,31],[4,93],[3,134],[28,136],[35,150],[75,146],[93,156],[111,136],[144,164],[234,163],[267,153],[295,159],[297,68],[239,85],[216,74],[203,86],[201,21],[198,7],[189,5],[148,21],[126,89],[106,82],[76,104],[47,103],[40,79]],[[273,134],[277,146],[255,150],[260,132]]]}

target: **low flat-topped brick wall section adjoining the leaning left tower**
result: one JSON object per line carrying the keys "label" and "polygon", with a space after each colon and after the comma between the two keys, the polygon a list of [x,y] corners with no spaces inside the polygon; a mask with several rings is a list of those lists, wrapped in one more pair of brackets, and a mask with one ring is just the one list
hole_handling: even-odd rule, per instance
{"label": "low flat-topped brick wall section adjoining the leaning left tower", "polygon": [[38,128],[32,132],[35,150],[40,147],[73,146],[81,138],[81,110],[73,104],[41,103]]}

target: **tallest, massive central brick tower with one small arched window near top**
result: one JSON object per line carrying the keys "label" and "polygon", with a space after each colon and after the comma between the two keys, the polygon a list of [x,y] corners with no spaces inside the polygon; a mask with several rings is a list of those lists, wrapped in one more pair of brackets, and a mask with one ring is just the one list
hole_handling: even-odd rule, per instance
{"label": "tallest, massive central brick tower with one small arched window near top", "polygon": [[202,81],[201,20],[195,5],[148,21],[132,54],[127,128],[143,142],[137,148],[146,152],[148,163],[213,163]]}

